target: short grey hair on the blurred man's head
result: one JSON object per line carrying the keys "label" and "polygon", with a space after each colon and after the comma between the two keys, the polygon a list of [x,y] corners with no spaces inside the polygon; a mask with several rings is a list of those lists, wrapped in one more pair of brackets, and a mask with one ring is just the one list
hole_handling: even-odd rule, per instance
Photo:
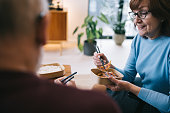
{"label": "short grey hair on the blurred man's head", "polygon": [[47,12],[47,0],[0,0],[0,39],[9,34],[29,35],[38,16]]}

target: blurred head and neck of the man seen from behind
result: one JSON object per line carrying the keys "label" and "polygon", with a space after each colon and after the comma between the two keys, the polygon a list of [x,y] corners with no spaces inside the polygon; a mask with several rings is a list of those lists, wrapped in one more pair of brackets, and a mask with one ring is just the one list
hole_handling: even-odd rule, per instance
{"label": "blurred head and neck of the man seen from behind", "polygon": [[0,0],[0,69],[32,71],[46,42],[47,13],[47,0]]}

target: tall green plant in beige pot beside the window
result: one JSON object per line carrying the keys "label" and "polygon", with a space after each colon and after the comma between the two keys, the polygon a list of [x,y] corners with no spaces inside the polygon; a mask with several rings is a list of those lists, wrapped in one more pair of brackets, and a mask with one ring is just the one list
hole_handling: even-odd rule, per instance
{"label": "tall green plant in beige pot beside the window", "polygon": [[115,33],[113,37],[117,45],[121,45],[125,39],[125,22],[126,21],[122,21],[123,4],[124,4],[124,0],[120,0],[116,21],[114,21],[114,17],[108,18],[103,13],[101,13],[101,15],[98,16],[98,18],[102,22],[110,25],[111,28],[113,29]]}

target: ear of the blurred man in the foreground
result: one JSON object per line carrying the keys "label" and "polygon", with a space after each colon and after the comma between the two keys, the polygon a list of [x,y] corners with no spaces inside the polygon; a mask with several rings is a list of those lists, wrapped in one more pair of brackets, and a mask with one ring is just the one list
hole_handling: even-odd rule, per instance
{"label": "ear of the blurred man in the foreground", "polygon": [[45,45],[47,42],[47,27],[49,16],[43,16],[38,19],[36,24],[36,42],[41,45]]}

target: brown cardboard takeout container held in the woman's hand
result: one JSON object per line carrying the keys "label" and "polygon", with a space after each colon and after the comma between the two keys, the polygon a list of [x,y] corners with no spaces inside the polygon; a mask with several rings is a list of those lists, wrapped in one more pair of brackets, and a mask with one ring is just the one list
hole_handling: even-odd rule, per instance
{"label": "brown cardboard takeout container held in the woman's hand", "polygon": [[[99,76],[99,73],[102,73],[101,70],[99,70],[98,68],[93,68],[91,69],[91,71],[99,77],[99,84],[102,84],[102,85],[113,85],[114,83],[111,82],[108,77],[104,77],[104,76]],[[115,75],[117,75],[118,77],[115,77],[116,79],[118,80],[121,80],[123,78],[123,74],[121,74],[119,71],[115,70],[115,69],[108,69],[109,72],[113,72]]]}

